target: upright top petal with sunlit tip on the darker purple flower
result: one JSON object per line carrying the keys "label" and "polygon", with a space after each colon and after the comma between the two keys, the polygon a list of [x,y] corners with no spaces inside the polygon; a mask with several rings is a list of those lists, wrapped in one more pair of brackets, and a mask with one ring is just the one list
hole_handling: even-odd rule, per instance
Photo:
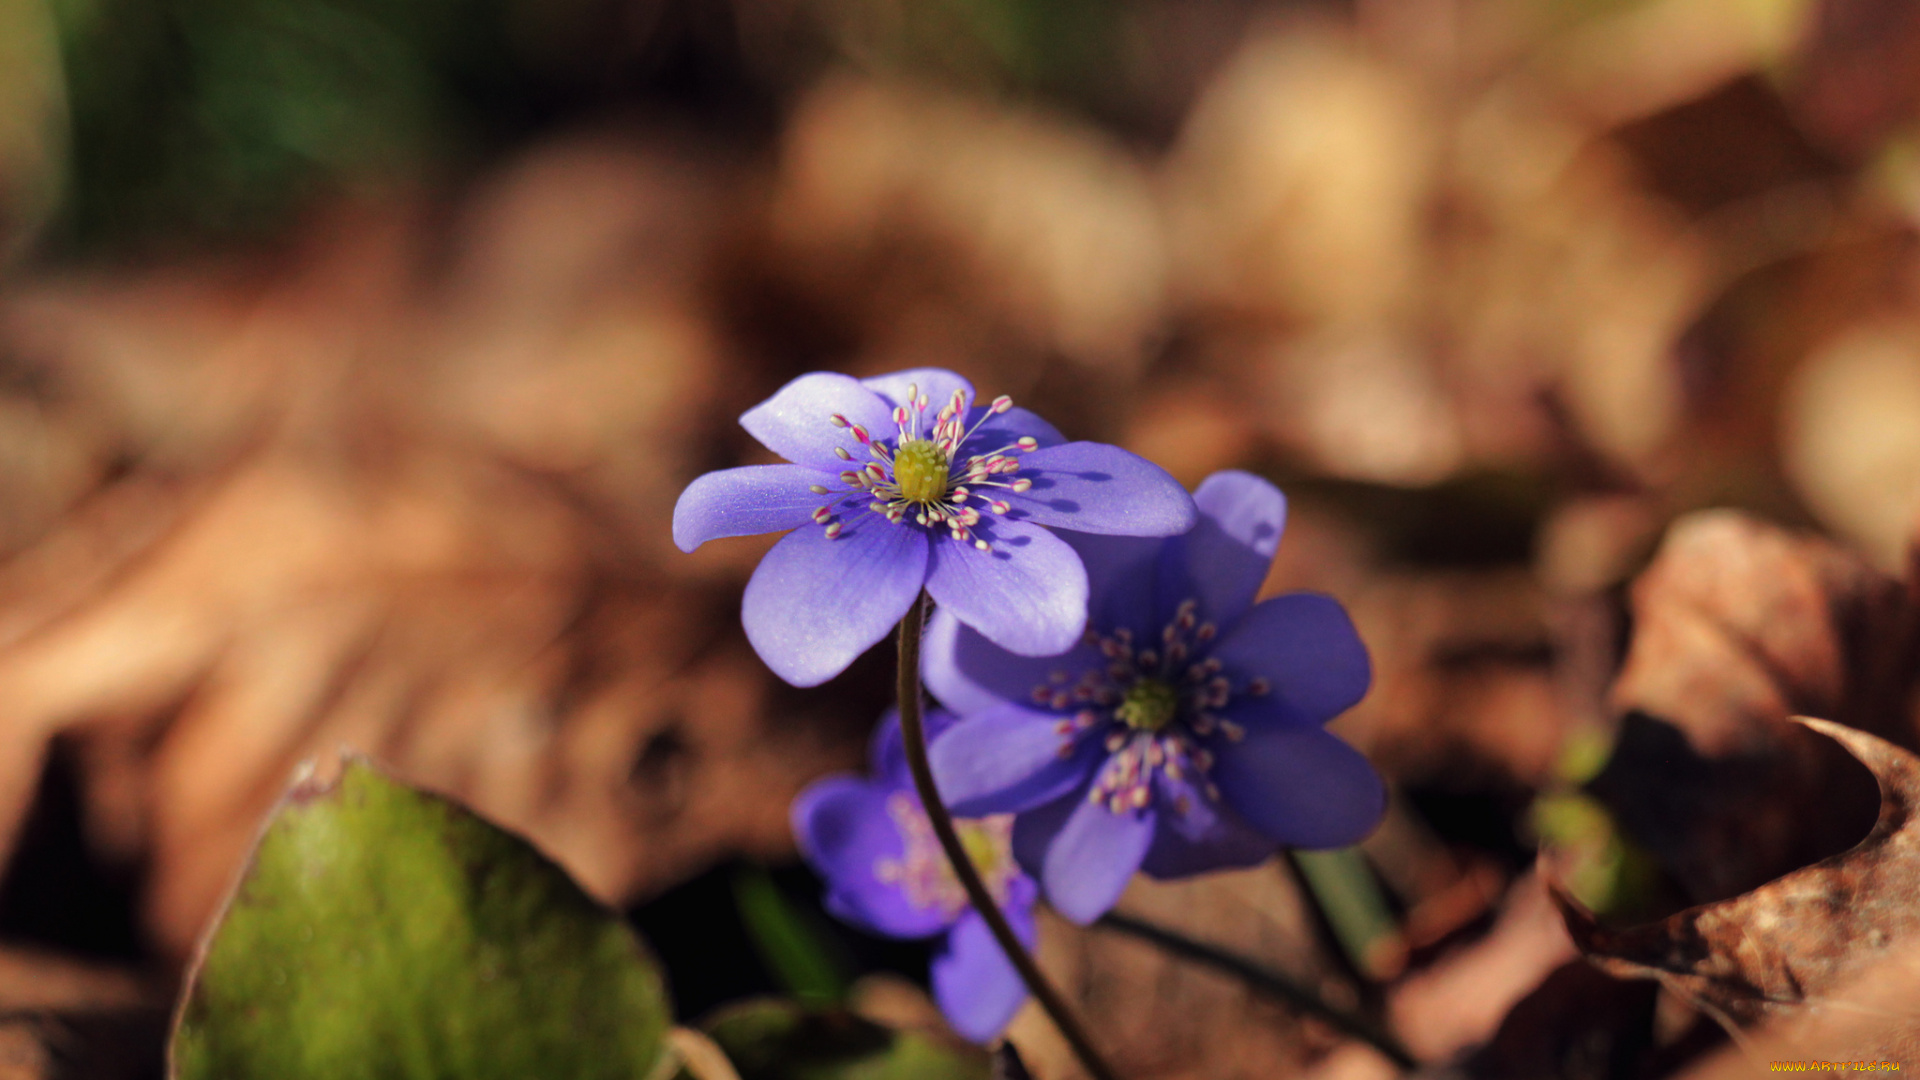
{"label": "upright top petal with sunlit tip on the darker purple flower", "polygon": [[1194,505],[1200,521],[1192,532],[1165,542],[1160,609],[1171,613],[1192,598],[1200,621],[1231,626],[1267,580],[1286,527],[1286,496],[1252,473],[1229,469],[1200,484]]}

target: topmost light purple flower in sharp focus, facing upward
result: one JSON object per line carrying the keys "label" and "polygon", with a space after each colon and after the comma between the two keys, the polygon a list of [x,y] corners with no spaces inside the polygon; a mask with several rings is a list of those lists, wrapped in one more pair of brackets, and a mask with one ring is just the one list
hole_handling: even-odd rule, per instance
{"label": "topmost light purple flower in sharp focus, facing upward", "polygon": [[741,621],[795,686],[845,671],[922,586],[1008,651],[1058,653],[1085,630],[1087,571],[1048,528],[1171,536],[1194,523],[1158,465],[1064,442],[1010,398],[979,405],[950,371],[803,375],[739,423],[791,465],[693,480],[674,544],[793,528],[747,582]]}

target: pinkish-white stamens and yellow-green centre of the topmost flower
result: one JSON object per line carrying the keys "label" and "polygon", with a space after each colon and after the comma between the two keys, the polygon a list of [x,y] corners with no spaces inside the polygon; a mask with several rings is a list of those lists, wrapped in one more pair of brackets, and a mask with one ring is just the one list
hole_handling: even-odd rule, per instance
{"label": "pinkish-white stamens and yellow-green centre of the topmost flower", "polygon": [[[866,507],[885,515],[889,523],[899,525],[912,517],[922,527],[947,528],[954,540],[972,542],[985,552],[989,548],[987,540],[973,532],[981,523],[983,511],[1004,515],[1012,505],[1006,500],[987,494],[983,488],[1004,488],[1010,492],[1033,488],[1033,480],[1025,477],[1016,479],[1014,473],[1020,471],[1018,454],[1039,450],[1039,440],[1021,436],[998,450],[972,454],[966,461],[956,463],[954,455],[966,440],[973,438],[973,432],[987,419],[1012,409],[1014,400],[1004,394],[995,398],[970,429],[966,425],[966,392],[954,390],[947,405],[933,415],[925,432],[922,432],[922,425],[933,402],[920,392],[918,384],[906,388],[906,402],[893,409],[893,423],[900,429],[895,446],[874,438],[872,432],[841,413],[828,417],[828,423],[833,427],[851,430],[874,459],[858,469],[841,473],[839,480],[847,484],[845,488],[835,490],[826,484],[812,484],[810,490],[820,496],[868,496]],[[841,461],[852,463],[854,459],[843,446],[835,446],[833,454]],[[845,523],[833,513],[833,503],[816,509],[814,521],[826,527],[829,540],[837,538],[845,528]]]}

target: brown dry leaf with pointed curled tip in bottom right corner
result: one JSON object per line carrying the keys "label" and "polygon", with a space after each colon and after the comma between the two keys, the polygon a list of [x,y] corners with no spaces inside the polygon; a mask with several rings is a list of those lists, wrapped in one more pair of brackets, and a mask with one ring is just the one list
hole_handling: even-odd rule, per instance
{"label": "brown dry leaf with pointed curled tip in bottom right corner", "polygon": [[1851,851],[1661,922],[1609,930],[1553,890],[1567,930],[1611,974],[1657,978],[1732,1024],[1818,1005],[1866,967],[1920,940],[1920,757],[1862,730],[1795,717],[1847,748],[1880,782],[1880,821]]}

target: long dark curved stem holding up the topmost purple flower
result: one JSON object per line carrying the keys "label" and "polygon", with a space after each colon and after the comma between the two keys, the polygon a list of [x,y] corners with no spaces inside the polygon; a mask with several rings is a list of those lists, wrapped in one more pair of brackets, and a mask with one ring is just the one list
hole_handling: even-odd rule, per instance
{"label": "long dark curved stem holding up the topmost purple flower", "polygon": [[1000,942],[1000,949],[1006,951],[1006,959],[1012,961],[1014,970],[1020,972],[1020,980],[1027,984],[1027,992],[1033,999],[1046,1009],[1052,1017],[1054,1026],[1066,1036],[1068,1043],[1073,1047],[1073,1055],[1081,1059],[1081,1065],[1094,1076],[1094,1080],[1119,1080],[1112,1067],[1100,1057],[1087,1038],[1087,1030],[1081,1028],[1079,1019],[1073,1017],[1073,1009],[1068,1007],[1066,999],[1054,990],[1046,976],[1041,974],[1041,965],[1033,963],[1033,955],[1027,947],[1020,944],[1014,936],[1014,928],[1008,926],[1006,915],[1000,913],[1000,905],[993,901],[993,894],[987,892],[987,884],[979,880],[979,871],[973,869],[973,859],[968,857],[966,847],[960,846],[960,834],[954,832],[954,819],[947,813],[947,803],[941,801],[939,788],[933,786],[933,767],[927,763],[927,734],[925,726],[920,723],[920,630],[927,621],[927,594],[920,594],[914,605],[906,609],[906,619],[900,619],[900,742],[906,744],[906,767],[914,774],[914,790],[920,792],[920,805],[927,811],[927,821],[933,824],[933,836],[939,836],[941,849],[947,851],[947,863],[952,867],[954,876],[966,888],[968,899],[973,903],[973,911],[987,922],[993,930],[993,940]]}

